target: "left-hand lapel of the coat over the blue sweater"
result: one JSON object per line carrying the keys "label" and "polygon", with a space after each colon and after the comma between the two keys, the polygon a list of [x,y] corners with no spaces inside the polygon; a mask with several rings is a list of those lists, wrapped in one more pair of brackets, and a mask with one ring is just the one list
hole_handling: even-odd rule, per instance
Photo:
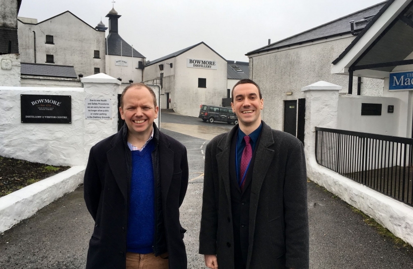
{"label": "left-hand lapel of the coat over the blue sweater", "polygon": [[129,171],[127,168],[125,145],[121,131],[115,135],[111,145],[112,148],[106,153],[107,162],[109,163],[110,170],[112,171],[117,185],[119,186],[123,198],[127,201]]}

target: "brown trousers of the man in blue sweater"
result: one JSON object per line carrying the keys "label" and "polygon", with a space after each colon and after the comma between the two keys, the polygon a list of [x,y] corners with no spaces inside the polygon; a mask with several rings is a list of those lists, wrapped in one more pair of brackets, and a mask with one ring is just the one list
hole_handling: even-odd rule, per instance
{"label": "brown trousers of the man in blue sweater", "polygon": [[126,269],[168,269],[168,253],[155,257],[155,254],[126,253]]}

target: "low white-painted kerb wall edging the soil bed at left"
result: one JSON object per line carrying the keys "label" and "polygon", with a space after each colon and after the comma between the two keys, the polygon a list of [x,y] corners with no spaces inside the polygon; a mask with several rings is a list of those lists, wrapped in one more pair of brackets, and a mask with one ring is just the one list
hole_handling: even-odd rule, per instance
{"label": "low white-painted kerb wall edging the soil bed at left", "polygon": [[64,194],[74,191],[82,182],[85,166],[73,166],[57,175],[0,197],[0,233],[31,217],[41,208]]}

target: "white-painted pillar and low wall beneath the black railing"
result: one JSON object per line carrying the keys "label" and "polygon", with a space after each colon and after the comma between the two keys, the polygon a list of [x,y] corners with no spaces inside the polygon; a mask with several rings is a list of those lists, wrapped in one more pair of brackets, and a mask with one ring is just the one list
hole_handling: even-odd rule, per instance
{"label": "white-painted pillar and low wall beneath the black railing", "polygon": [[[305,154],[307,176],[348,204],[360,209],[413,246],[413,208],[316,163],[315,127],[337,125],[338,91],[309,90],[306,98]],[[332,99],[331,99],[332,98]],[[333,100],[333,102],[331,102]],[[334,101],[337,100],[337,101]]]}

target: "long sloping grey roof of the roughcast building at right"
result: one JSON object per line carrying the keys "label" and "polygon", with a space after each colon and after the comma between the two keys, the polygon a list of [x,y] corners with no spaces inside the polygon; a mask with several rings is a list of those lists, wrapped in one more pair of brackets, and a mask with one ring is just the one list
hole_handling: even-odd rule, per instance
{"label": "long sloping grey roof of the roughcast building at right", "polygon": [[352,14],[327,22],[310,30],[290,36],[286,39],[277,41],[262,48],[250,51],[246,55],[279,49],[291,45],[302,44],[305,42],[326,38],[329,36],[350,33],[350,21],[352,20],[356,21],[355,30],[360,31],[367,25],[367,23],[357,23],[357,21],[363,20],[366,17],[376,15],[380,11],[380,9],[386,4],[386,2],[387,1],[375,4],[373,6],[359,10]]}

